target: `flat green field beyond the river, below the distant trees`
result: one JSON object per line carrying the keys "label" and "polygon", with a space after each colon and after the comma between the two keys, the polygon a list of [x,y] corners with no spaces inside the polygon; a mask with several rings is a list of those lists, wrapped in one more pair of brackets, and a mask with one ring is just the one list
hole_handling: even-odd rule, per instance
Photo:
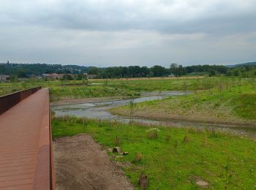
{"label": "flat green field beyond the river, below the distant trees", "polygon": [[102,96],[137,96],[141,91],[200,91],[211,89],[219,83],[234,85],[246,81],[233,77],[205,78],[159,78],[136,80],[89,80],[90,86],[84,86],[81,80],[43,81],[26,80],[20,83],[0,83],[0,95],[9,94],[26,88],[42,86],[50,88],[51,100],[78,99]]}

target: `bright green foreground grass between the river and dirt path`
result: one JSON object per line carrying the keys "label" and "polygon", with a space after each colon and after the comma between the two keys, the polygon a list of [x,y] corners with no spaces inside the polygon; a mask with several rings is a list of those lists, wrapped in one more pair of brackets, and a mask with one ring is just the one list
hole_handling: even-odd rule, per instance
{"label": "bright green foreground grass between the river and dirt path", "polygon": [[134,184],[145,172],[149,189],[197,189],[198,181],[207,182],[209,189],[255,189],[255,141],[192,128],[148,129],[107,121],[99,126],[84,118],[53,119],[54,138],[84,132],[106,148],[118,145],[128,151],[116,159],[126,163],[123,170]]}

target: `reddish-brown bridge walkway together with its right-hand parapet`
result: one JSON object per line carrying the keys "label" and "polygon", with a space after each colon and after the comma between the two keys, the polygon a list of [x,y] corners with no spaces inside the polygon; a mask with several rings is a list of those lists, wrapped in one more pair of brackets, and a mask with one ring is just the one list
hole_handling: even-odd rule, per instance
{"label": "reddish-brown bridge walkway together with its right-hand parapet", "polygon": [[55,189],[48,88],[0,115],[0,189]]}

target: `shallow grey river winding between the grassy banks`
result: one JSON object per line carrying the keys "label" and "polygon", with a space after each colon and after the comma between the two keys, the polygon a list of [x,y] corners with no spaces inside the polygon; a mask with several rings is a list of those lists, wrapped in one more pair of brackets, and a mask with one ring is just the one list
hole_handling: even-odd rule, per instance
{"label": "shallow grey river winding between the grassy banks", "polygon": [[[184,91],[164,91],[161,93],[156,92],[145,92],[141,94],[141,97],[132,99],[135,103],[151,101],[154,99],[164,99],[168,96],[186,96],[191,94],[191,92]],[[118,107],[128,104],[131,99],[113,99],[113,100],[101,100],[101,101],[91,101],[87,103],[75,103],[75,104],[63,104],[63,105],[52,105],[51,110],[53,110],[56,116],[61,115],[73,115],[77,117],[86,118],[100,118],[102,120],[111,120],[119,122],[129,122],[129,118],[124,116],[112,115],[108,110],[112,107]],[[219,125],[219,124],[206,124],[206,123],[189,123],[184,121],[157,121],[145,118],[134,118],[135,122],[156,124],[162,126],[175,126],[175,127],[187,127],[193,126],[196,128],[207,128],[216,129],[218,131],[231,132],[235,134],[241,134],[248,137],[256,138],[256,128],[251,126],[236,126],[236,125]]]}

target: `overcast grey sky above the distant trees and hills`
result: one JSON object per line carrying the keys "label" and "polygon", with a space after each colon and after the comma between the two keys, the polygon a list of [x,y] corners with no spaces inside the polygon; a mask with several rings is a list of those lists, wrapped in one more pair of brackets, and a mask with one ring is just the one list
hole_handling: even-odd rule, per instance
{"label": "overcast grey sky above the distant trees and hills", "polygon": [[0,0],[0,62],[256,61],[255,0]]}

